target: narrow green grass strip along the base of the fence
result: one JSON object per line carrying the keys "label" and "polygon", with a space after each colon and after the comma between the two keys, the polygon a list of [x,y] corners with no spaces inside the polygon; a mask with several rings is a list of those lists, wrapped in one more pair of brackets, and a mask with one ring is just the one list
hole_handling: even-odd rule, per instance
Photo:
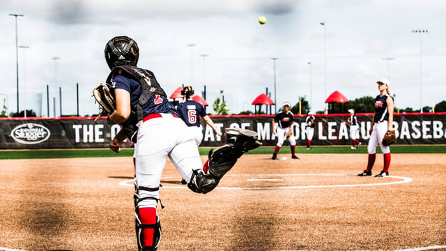
{"label": "narrow green grass strip along the base of the fence", "polygon": [[[211,148],[199,149],[201,155],[208,155]],[[274,146],[265,146],[247,154],[272,154]],[[445,153],[445,145],[404,145],[391,146],[392,153]],[[279,154],[289,154],[289,146],[283,146]],[[301,153],[367,153],[367,146],[352,150],[350,146],[314,146],[307,150],[305,146],[296,147],[296,155]],[[377,153],[380,153],[379,147]],[[0,160],[12,159],[36,159],[36,158],[92,158],[92,157],[129,157],[133,155],[133,149],[122,149],[121,153],[115,153],[109,149],[40,149],[40,150],[2,150]]]}

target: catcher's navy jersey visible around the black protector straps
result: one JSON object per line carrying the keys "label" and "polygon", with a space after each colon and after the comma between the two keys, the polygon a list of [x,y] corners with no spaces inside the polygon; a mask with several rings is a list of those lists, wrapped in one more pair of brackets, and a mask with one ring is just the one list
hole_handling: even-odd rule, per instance
{"label": "catcher's navy jersey visible around the black protector straps", "polygon": [[[139,70],[139,68],[137,68],[137,70]],[[110,91],[114,93],[114,89],[123,89],[130,93],[130,105],[132,108],[137,104],[139,96],[141,96],[141,84],[139,84],[137,80],[125,77],[123,75],[117,75],[114,77]],[[159,94],[151,96],[143,105],[142,110],[143,117],[147,116],[148,114],[157,113],[176,114],[175,107],[169,103],[167,97]]]}

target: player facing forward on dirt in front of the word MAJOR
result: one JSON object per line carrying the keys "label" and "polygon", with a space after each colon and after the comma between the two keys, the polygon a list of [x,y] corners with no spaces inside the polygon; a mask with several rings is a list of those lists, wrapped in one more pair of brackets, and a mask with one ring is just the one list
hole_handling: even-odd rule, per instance
{"label": "player facing forward on dirt in front of the word MAJOR", "polygon": [[285,136],[288,137],[291,148],[291,158],[298,159],[295,155],[295,138],[293,135],[294,116],[290,111],[289,102],[284,102],[283,111],[278,112],[272,119],[272,133],[277,135],[277,144],[272,154],[272,160],[277,160],[277,153],[284,144]]}

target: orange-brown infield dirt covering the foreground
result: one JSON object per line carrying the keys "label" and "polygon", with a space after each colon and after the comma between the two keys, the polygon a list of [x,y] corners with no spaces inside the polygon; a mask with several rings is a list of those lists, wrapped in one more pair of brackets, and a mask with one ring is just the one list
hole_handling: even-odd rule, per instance
{"label": "orange-brown infield dirt covering the foreground", "polygon": [[[446,246],[445,154],[392,154],[386,178],[356,176],[367,154],[269,157],[243,155],[206,195],[168,160],[158,250]],[[0,250],[137,250],[133,175],[128,157],[0,160]]]}

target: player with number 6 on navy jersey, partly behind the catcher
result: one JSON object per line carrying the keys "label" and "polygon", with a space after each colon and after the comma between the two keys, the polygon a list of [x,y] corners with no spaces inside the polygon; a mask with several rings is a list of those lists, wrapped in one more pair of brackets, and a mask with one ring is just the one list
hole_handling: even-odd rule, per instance
{"label": "player with number 6 on navy jersey, partly behind the catcher", "polygon": [[183,91],[181,91],[181,94],[183,95],[183,102],[176,107],[176,110],[180,118],[183,119],[194,135],[197,146],[199,146],[201,140],[203,140],[203,128],[201,127],[200,117],[214,130],[218,137],[222,136],[220,129],[215,127],[212,119],[206,114],[203,105],[192,99],[194,96],[194,89],[192,89],[192,86],[185,86]]}

